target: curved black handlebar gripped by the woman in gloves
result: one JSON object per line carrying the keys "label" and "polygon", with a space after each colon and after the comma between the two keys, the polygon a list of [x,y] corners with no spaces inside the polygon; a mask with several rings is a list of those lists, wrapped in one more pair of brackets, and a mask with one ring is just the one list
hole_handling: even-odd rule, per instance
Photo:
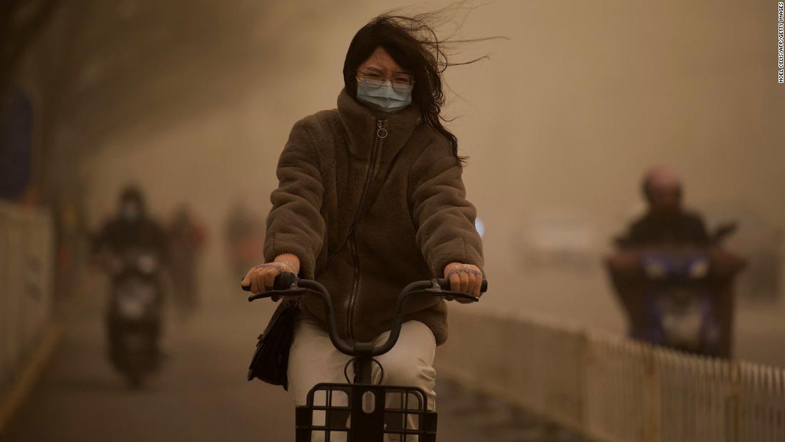
{"label": "curved black handlebar gripped by the woman in gloves", "polygon": [[[250,287],[243,286],[243,290],[250,291]],[[480,293],[487,291],[487,280],[483,279]],[[349,345],[338,336],[338,330],[335,326],[335,318],[333,314],[333,303],[330,299],[330,292],[327,287],[324,287],[318,281],[312,279],[298,279],[297,275],[290,272],[283,272],[276,276],[273,283],[272,290],[267,290],[259,294],[252,294],[248,297],[248,301],[256,301],[261,298],[272,298],[273,301],[278,301],[282,296],[301,296],[306,293],[319,294],[324,304],[325,314],[327,316],[327,332],[330,334],[330,342],[333,343],[336,349],[341,353],[349,356],[380,356],[392,349],[398,341],[400,335],[400,327],[403,323],[403,302],[412,294],[428,293],[433,296],[440,296],[452,301],[456,298],[462,298],[469,301],[479,301],[470,294],[456,292],[450,290],[450,280],[444,278],[430,279],[427,281],[415,281],[403,287],[398,295],[398,302],[396,304],[396,317],[390,329],[389,338],[387,341],[374,347],[371,342],[356,342],[355,345]]]}

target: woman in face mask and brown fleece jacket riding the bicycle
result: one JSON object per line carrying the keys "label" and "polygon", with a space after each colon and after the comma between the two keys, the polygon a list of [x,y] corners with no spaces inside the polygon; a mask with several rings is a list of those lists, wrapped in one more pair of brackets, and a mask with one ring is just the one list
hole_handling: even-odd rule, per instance
{"label": "woman in face mask and brown fleece jacket riding the bicycle", "polygon": [[[271,195],[267,262],[242,281],[257,293],[282,272],[316,279],[349,342],[382,342],[411,281],[444,277],[451,290],[480,294],[476,210],[457,139],[440,120],[447,60],[427,18],[382,15],[354,36],[338,108],[291,130]],[[287,377],[301,405],[317,383],[343,382],[350,358],[331,345],[319,299],[302,297],[299,307]],[[412,298],[403,320],[398,343],[378,357],[383,382],[419,387],[433,409],[447,307],[441,298]]]}

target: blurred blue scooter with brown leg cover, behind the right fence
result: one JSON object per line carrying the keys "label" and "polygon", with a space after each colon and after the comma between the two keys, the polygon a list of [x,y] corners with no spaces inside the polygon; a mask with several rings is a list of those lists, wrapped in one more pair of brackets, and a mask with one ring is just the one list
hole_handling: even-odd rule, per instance
{"label": "blurred blue scooter with brown leg cover, behind the right fence", "polygon": [[623,248],[608,271],[630,322],[630,337],[705,356],[731,353],[732,279],[742,258],[722,250],[736,230],[723,225],[703,245]]}

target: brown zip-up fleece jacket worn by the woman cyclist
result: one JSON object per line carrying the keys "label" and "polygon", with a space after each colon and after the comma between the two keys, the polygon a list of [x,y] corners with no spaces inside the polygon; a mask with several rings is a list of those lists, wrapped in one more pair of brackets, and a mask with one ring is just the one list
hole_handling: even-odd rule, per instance
{"label": "brown zip-up fleece jacket worn by the woman cyclist", "polygon": [[[407,283],[441,277],[454,261],[482,268],[462,166],[415,106],[374,115],[343,90],[337,109],[294,124],[277,174],[265,258],[300,258],[300,275],[330,290],[343,338],[369,342],[388,331]],[[316,296],[300,306],[324,323]],[[414,296],[404,310],[437,344],[447,339],[442,299]]]}

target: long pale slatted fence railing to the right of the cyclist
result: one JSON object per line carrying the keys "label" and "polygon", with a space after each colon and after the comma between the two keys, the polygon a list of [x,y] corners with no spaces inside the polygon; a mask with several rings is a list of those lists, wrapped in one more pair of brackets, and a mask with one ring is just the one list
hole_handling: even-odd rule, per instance
{"label": "long pale slatted fence railing to the right of the cyclist", "polygon": [[441,375],[591,440],[785,441],[782,368],[468,309],[451,309],[450,339],[436,360]]}

